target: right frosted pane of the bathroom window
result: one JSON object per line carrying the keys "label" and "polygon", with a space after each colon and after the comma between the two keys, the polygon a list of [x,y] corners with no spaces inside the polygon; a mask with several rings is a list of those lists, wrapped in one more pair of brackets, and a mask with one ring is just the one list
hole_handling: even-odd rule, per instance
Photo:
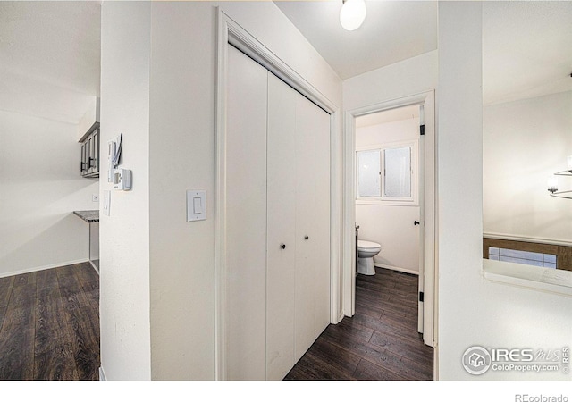
{"label": "right frosted pane of the bathroom window", "polygon": [[411,148],[388,148],[383,150],[385,197],[411,197]]}

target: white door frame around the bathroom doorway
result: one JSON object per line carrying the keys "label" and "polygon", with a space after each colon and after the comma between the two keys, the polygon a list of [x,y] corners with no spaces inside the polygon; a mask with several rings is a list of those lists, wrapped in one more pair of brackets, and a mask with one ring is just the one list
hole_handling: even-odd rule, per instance
{"label": "white door frame around the bathroom doorway", "polygon": [[435,101],[434,91],[405,96],[376,105],[347,111],[344,115],[344,222],[343,222],[343,311],[356,313],[356,118],[409,105],[425,105],[425,272],[424,284],[424,341],[437,346],[437,264],[436,264],[436,181],[435,181]]}

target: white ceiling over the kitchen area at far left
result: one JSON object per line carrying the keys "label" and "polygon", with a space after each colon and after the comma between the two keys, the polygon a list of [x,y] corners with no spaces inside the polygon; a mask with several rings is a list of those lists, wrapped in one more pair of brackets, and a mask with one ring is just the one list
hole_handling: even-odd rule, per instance
{"label": "white ceiling over the kitchen area at far left", "polygon": [[0,1],[0,110],[80,120],[99,94],[100,5]]}

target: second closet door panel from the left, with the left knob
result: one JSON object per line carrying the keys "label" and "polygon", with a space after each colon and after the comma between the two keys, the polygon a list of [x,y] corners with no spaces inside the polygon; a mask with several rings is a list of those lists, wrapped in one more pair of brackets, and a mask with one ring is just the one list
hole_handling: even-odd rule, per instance
{"label": "second closet door panel from the left, with the left knob", "polygon": [[296,96],[268,73],[267,380],[282,380],[295,363]]}

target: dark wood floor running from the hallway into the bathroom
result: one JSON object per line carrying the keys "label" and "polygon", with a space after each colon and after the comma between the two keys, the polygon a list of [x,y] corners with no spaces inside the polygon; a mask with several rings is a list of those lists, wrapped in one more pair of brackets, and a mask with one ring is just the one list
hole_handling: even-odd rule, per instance
{"label": "dark wood floor running from the hallway into the bathroom", "polygon": [[417,332],[417,277],[357,275],[356,314],[329,325],[284,380],[433,380],[433,348]]}

